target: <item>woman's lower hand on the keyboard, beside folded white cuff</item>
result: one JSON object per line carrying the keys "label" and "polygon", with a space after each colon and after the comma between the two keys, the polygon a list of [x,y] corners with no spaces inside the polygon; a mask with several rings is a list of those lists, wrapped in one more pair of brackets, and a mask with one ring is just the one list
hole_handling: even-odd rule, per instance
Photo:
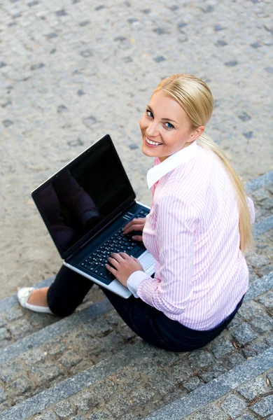
{"label": "woman's lower hand on the keyboard, beside folded white cuff", "polygon": [[108,269],[125,287],[127,287],[127,280],[132,273],[139,270],[144,271],[139,260],[127,255],[125,252],[111,253],[108,260],[114,268],[111,267],[111,265],[106,264],[106,269]]}

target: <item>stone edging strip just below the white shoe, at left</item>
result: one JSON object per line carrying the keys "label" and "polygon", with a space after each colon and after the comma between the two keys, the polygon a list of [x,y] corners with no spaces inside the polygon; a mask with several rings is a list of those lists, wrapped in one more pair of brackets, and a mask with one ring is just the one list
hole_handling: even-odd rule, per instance
{"label": "stone edging strip just below the white shoe, at left", "polygon": [[72,330],[78,325],[86,321],[90,321],[92,318],[106,314],[106,312],[111,309],[113,309],[112,304],[108,299],[104,299],[100,302],[91,304],[82,311],[76,312],[71,316],[42,328],[41,330],[33,332],[31,335],[27,335],[27,337],[20,339],[18,342],[10,344],[10,346],[5,349],[1,349],[0,363],[6,363],[8,360],[20,356],[20,354],[25,353],[25,351],[28,351],[29,349],[41,346],[41,344],[44,344],[49,339],[57,337],[66,331]]}

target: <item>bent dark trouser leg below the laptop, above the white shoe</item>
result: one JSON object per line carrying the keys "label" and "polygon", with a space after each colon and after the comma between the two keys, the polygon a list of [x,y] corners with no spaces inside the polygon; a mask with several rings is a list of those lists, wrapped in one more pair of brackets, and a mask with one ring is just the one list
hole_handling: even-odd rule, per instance
{"label": "bent dark trouser leg below the laptop, above the white shoe", "polygon": [[62,265],[55,281],[48,289],[48,307],[53,314],[68,316],[83,302],[94,283],[84,276]]}

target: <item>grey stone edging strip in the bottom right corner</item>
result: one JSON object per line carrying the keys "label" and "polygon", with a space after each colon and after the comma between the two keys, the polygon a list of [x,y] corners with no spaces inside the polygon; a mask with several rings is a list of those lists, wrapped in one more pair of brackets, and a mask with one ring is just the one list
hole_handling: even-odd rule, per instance
{"label": "grey stone edging strip in the bottom right corner", "polygon": [[[143,420],[181,420],[273,367],[273,347]],[[1,417],[0,417],[1,419]]]}

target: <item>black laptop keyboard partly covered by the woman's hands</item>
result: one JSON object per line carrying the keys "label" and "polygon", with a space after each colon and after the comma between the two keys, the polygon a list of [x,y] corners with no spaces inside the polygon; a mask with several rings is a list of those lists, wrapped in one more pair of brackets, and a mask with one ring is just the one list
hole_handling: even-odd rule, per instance
{"label": "black laptop keyboard partly covered by the woman's hands", "polygon": [[[146,210],[141,210],[137,216],[133,218],[145,218],[149,212]],[[127,225],[128,221],[125,223]],[[132,236],[142,235],[142,232],[130,232],[127,235],[123,234],[122,228],[116,232],[113,237],[108,241],[104,242],[97,251],[94,251],[89,257],[87,257],[81,264],[81,267],[84,267],[87,272],[90,274],[97,274],[102,277],[104,283],[109,284],[116,277],[111,274],[111,272],[106,269],[105,264],[108,262],[108,258],[113,252],[125,252],[127,254],[133,254],[135,251],[138,251],[141,248],[144,248],[144,245],[139,241],[134,241]],[[109,262],[108,262],[109,263]]]}

